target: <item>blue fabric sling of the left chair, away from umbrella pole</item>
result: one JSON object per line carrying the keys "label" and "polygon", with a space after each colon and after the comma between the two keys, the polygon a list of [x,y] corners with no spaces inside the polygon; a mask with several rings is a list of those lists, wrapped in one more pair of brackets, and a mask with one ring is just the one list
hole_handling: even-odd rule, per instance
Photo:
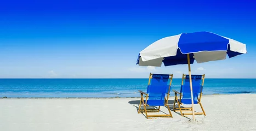
{"label": "blue fabric sling of the left chair, away from umbrella pole", "polygon": [[[164,105],[164,97],[170,90],[172,76],[169,74],[151,74],[147,94],[149,94],[149,105]],[[170,82],[168,81],[170,79]]]}

